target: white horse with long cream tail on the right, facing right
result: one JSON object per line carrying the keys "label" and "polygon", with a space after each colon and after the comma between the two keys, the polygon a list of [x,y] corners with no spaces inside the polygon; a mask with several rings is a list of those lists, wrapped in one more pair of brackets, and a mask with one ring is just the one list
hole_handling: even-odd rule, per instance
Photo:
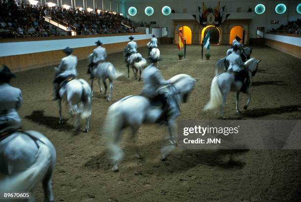
{"label": "white horse with long cream tail on the right, facing right", "polygon": [[[250,87],[251,87],[251,76],[254,76],[258,63],[261,60],[256,60],[255,58],[251,58],[250,60],[244,63],[244,66],[248,70],[248,74],[250,77],[250,84],[247,86],[246,93],[248,94],[248,101],[246,105],[244,105],[244,109],[247,109],[250,101]],[[204,107],[204,110],[217,110],[220,109],[220,115],[224,118],[224,107],[227,96],[230,91],[236,92],[236,111],[237,113],[241,113],[239,109],[239,95],[242,87],[241,81],[235,81],[234,75],[228,72],[223,72],[214,76],[211,82],[211,90],[210,90],[210,101]]]}

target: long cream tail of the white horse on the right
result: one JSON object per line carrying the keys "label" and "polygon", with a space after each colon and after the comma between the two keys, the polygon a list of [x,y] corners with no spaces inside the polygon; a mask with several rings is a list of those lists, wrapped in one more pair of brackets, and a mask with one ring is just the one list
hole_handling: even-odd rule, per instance
{"label": "long cream tail of the white horse on the right", "polygon": [[210,88],[210,101],[205,105],[204,110],[217,109],[222,104],[223,95],[217,83],[218,75],[214,76]]}

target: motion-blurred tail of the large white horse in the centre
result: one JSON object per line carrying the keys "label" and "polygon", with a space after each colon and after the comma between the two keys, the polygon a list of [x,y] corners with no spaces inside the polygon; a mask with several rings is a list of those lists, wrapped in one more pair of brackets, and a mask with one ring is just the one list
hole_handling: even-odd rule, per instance
{"label": "motion-blurred tail of the large white horse in the centre", "polygon": [[103,127],[104,137],[111,154],[110,159],[114,165],[118,164],[123,158],[123,152],[119,145],[123,123],[121,113],[117,108],[118,104],[119,102],[116,102],[109,107]]}

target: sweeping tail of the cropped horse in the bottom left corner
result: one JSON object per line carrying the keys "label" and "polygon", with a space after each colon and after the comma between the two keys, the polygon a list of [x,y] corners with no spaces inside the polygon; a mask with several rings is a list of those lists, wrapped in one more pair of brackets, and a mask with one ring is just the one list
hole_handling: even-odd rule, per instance
{"label": "sweeping tail of the cropped horse in the bottom left corner", "polygon": [[35,162],[25,170],[0,181],[1,192],[29,192],[43,181],[51,166],[51,152],[47,145],[40,144]]}

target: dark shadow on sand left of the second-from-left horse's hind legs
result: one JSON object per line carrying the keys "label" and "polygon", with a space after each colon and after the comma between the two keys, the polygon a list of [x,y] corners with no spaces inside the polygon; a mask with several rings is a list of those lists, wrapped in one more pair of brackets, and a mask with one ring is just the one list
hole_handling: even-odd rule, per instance
{"label": "dark shadow on sand left of the second-from-left horse's hind legs", "polygon": [[72,130],[73,126],[67,124],[68,119],[63,119],[63,123],[59,124],[59,116],[45,116],[43,110],[35,110],[31,115],[24,117],[35,123],[47,126],[55,130]]}

